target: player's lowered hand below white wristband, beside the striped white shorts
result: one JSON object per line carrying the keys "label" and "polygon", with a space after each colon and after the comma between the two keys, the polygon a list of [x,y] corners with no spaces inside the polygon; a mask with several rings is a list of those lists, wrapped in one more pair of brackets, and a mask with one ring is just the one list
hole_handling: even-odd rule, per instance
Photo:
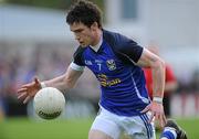
{"label": "player's lowered hand below white wristband, beside the striped white shorts", "polygon": [[151,101],[142,113],[147,113],[147,111],[151,113],[151,117],[149,119],[149,122],[151,122],[153,119],[155,118],[155,120],[159,121],[159,126],[161,128],[165,127],[165,125],[166,125],[166,117],[165,117],[165,111],[164,111],[163,104],[159,104],[159,103],[156,103],[156,101]]}

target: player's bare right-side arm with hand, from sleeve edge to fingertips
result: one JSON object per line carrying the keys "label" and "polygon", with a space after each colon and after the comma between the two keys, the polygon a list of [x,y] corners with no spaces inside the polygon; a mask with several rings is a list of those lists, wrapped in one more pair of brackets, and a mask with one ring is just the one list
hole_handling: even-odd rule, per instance
{"label": "player's bare right-side arm with hand, from sleeve edge to fingertips", "polygon": [[159,125],[164,127],[166,125],[166,117],[163,107],[163,97],[165,88],[165,62],[154,53],[149,52],[146,49],[143,49],[143,53],[137,61],[137,65],[142,67],[151,68],[153,73],[153,101],[149,104],[143,113],[151,111],[153,120],[155,117],[159,120]]}

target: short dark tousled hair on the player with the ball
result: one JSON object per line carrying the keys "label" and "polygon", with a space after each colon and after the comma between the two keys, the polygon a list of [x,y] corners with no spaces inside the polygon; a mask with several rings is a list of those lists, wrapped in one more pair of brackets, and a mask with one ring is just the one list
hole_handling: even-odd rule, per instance
{"label": "short dark tousled hair on the player with the ball", "polygon": [[102,28],[101,9],[86,0],[78,0],[75,2],[67,12],[66,22],[69,24],[83,23],[86,26],[91,26],[94,22],[97,22],[98,28]]}

